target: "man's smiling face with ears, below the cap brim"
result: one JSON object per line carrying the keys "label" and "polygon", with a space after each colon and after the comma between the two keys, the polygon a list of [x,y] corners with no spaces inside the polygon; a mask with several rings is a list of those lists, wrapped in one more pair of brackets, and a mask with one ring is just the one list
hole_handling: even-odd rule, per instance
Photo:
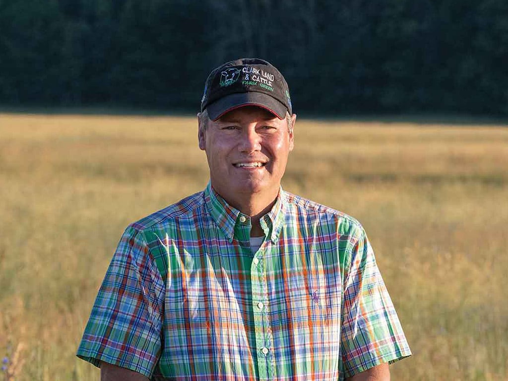
{"label": "man's smiling face with ears, below the cap brim", "polygon": [[226,201],[254,194],[272,201],[293,150],[293,131],[285,119],[245,106],[210,121],[199,147],[206,151],[211,184]]}

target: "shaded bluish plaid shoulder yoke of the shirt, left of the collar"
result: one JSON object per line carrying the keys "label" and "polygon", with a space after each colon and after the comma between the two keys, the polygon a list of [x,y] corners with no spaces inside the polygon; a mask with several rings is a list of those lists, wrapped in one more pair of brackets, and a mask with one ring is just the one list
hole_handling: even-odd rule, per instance
{"label": "shaded bluish plaid shoulder yoke of the shirt, left of the collar", "polygon": [[204,205],[204,193],[198,192],[130,224],[131,228],[143,231],[149,228],[171,224],[180,218],[187,218]]}

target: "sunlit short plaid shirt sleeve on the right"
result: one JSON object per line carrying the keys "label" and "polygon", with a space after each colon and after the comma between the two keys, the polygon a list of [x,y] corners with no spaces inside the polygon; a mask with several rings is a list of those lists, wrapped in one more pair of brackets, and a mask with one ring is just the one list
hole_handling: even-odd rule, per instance
{"label": "sunlit short plaid shirt sleeve on the right", "polygon": [[367,235],[361,226],[353,231],[342,305],[341,346],[346,377],[411,355]]}

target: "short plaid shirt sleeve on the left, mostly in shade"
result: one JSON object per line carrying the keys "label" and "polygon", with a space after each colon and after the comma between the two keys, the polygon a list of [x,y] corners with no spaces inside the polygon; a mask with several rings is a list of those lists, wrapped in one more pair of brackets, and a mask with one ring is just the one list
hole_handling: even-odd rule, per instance
{"label": "short plaid shirt sleeve on the left, mostly in shade", "polygon": [[104,277],[77,356],[153,373],[161,353],[164,282],[143,234],[123,233]]}

